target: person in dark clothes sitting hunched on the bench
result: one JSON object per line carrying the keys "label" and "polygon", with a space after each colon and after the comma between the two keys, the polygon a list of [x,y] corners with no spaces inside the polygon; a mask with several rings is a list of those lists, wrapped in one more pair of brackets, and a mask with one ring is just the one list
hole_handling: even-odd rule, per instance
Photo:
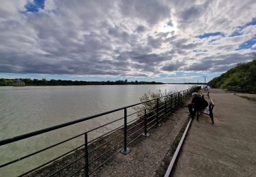
{"label": "person in dark clothes sitting hunched on the bench", "polygon": [[[208,102],[202,97],[197,95],[197,93],[192,93],[192,101],[188,103],[189,116],[194,118],[197,110],[204,110],[208,106]],[[194,110],[193,110],[194,109]]]}

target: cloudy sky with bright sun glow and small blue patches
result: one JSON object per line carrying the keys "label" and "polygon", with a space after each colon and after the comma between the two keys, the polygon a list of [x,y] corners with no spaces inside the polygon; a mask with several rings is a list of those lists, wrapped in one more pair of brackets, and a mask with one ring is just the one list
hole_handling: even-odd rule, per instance
{"label": "cloudy sky with bright sun glow and small blue patches", "polygon": [[256,1],[1,0],[0,78],[209,81],[256,52]]}

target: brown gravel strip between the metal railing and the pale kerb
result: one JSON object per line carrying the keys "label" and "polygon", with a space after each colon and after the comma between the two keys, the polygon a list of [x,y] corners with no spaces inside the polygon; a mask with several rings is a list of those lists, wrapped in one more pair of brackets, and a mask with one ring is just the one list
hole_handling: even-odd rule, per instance
{"label": "brown gravel strip between the metal railing and the pale kerb", "polygon": [[187,115],[187,108],[180,108],[154,127],[149,137],[129,146],[128,155],[117,154],[94,176],[163,176],[187,125]]}

